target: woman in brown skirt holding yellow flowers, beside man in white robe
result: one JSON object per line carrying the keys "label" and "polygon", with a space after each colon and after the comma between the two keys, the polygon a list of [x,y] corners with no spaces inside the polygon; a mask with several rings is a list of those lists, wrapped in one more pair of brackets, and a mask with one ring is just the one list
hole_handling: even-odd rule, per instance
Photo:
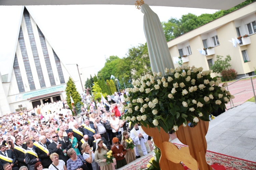
{"label": "woman in brown skirt holding yellow flowers, beside man in white robe", "polygon": [[127,164],[129,164],[133,160],[136,159],[136,156],[135,156],[135,152],[134,152],[133,148],[132,149],[131,148],[127,148],[127,142],[132,142],[133,143],[132,139],[128,135],[128,132],[125,130],[123,132],[123,140],[122,140],[121,144],[126,149],[125,159],[126,159]]}

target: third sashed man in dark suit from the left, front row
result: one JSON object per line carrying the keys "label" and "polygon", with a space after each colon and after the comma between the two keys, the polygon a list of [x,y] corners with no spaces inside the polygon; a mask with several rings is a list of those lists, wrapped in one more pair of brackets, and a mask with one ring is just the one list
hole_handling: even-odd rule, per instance
{"label": "third sashed man in dark suit from the left, front row", "polygon": [[28,164],[28,170],[34,170],[35,163],[39,161],[38,155],[33,149],[33,141],[28,140],[26,142],[27,150],[25,152],[25,162]]}

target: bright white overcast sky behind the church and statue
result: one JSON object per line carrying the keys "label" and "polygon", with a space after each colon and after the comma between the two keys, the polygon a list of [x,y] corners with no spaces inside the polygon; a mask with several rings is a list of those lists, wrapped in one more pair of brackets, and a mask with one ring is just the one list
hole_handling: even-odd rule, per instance
{"label": "bright white overcast sky behind the church and statue", "polygon": [[[125,57],[132,46],[146,42],[143,13],[131,5],[27,6],[47,41],[64,64],[88,67],[88,76],[104,66],[105,58]],[[217,10],[151,6],[160,21],[184,14]],[[0,72],[13,67],[15,42],[20,29],[21,6],[0,6]]]}

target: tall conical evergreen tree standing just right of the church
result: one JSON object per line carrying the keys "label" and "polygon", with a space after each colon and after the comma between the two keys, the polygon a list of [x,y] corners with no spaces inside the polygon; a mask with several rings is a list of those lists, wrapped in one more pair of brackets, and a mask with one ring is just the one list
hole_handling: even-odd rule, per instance
{"label": "tall conical evergreen tree standing just right of the church", "polygon": [[72,107],[71,99],[70,99],[70,96],[71,96],[74,101],[74,106],[76,108],[77,114],[79,114],[81,112],[81,105],[83,103],[82,103],[80,94],[75,87],[74,80],[71,77],[69,77],[65,91],[67,95],[66,97],[67,104],[69,105],[70,108]]}

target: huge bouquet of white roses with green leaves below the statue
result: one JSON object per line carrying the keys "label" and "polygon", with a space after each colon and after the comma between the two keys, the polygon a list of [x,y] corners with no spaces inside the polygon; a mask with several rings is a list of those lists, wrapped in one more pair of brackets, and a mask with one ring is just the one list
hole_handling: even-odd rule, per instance
{"label": "huge bouquet of white roses with green leaves below the statue", "polygon": [[221,78],[211,78],[211,71],[202,70],[194,66],[166,68],[169,75],[154,72],[133,81],[134,87],[126,89],[128,111],[122,119],[162,127],[166,132],[176,131],[188,122],[197,124],[199,119],[209,121],[209,114],[226,108],[225,104],[234,96],[226,91],[227,83],[219,86]]}

